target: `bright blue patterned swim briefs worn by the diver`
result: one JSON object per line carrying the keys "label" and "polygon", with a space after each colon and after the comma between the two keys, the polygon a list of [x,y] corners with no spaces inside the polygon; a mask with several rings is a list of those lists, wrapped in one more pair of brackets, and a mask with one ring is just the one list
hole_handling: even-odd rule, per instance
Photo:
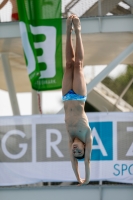
{"label": "bright blue patterned swim briefs worn by the diver", "polygon": [[86,101],[87,97],[76,94],[73,90],[69,90],[67,94],[62,97],[62,101]]}

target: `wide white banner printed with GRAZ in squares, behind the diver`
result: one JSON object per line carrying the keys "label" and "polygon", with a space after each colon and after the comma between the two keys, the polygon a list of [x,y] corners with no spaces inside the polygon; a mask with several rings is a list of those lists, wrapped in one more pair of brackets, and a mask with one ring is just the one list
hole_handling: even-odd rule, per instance
{"label": "wide white banner printed with GRAZ in squares, behind the diver", "polygon": [[[133,113],[87,113],[90,181],[133,183]],[[84,162],[79,162],[84,178]],[[0,118],[0,186],[76,181],[64,115]]]}

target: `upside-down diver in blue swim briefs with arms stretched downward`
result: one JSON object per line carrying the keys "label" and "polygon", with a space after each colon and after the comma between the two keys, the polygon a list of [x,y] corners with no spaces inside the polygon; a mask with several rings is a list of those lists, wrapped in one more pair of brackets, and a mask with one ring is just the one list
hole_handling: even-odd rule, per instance
{"label": "upside-down diver in blue swim briefs with arms stretched downward", "polygon": [[[72,44],[72,26],[76,35],[76,49]],[[88,118],[84,112],[86,83],[83,74],[84,48],[81,38],[80,20],[76,15],[67,19],[66,68],[62,82],[65,123],[69,136],[69,149],[72,168],[79,185],[86,185],[90,179],[90,157],[92,136]],[[85,179],[81,179],[78,159],[84,158]]]}

